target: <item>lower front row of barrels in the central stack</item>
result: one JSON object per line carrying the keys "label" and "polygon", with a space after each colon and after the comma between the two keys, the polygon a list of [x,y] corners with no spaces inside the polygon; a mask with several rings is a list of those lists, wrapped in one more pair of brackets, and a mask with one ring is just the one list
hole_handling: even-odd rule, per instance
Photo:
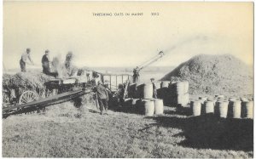
{"label": "lower front row of barrels in the central stack", "polygon": [[162,99],[125,99],[125,106],[130,106],[145,116],[164,114]]}

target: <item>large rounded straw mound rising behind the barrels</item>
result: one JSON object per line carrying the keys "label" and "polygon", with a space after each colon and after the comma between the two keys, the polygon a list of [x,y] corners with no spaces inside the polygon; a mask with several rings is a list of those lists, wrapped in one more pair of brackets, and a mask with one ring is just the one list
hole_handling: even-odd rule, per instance
{"label": "large rounded straw mound rising behind the barrels", "polygon": [[189,81],[189,94],[253,94],[253,67],[230,54],[200,54],[162,80]]}

